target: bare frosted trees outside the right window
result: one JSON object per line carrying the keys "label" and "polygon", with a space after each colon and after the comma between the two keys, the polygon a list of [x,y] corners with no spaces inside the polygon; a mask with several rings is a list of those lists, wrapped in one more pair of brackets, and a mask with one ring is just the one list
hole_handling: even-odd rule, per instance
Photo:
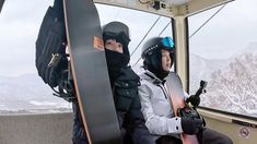
{"label": "bare frosted trees outside the right window", "polygon": [[214,71],[202,106],[257,117],[257,57],[244,53]]}

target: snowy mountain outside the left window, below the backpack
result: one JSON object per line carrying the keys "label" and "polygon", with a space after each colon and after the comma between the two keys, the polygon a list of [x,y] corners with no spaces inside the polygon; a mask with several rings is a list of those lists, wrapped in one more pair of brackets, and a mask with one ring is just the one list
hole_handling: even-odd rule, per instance
{"label": "snowy mountain outside the left window, below the backpack", "polygon": [[52,95],[50,87],[37,74],[0,76],[0,113],[70,109],[67,101]]}

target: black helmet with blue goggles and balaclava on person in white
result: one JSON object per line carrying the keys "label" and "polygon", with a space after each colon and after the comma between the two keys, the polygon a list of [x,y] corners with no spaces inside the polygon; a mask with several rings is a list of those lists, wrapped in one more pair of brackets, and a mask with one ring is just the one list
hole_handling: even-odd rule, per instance
{"label": "black helmet with blue goggles and balaclava on person in white", "polygon": [[171,37],[153,37],[148,39],[142,47],[141,58],[143,59],[144,69],[153,72],[160,79],[164,79],[167,72],[162,68],[161,49],[170,51],[173,62],[175,47]]}

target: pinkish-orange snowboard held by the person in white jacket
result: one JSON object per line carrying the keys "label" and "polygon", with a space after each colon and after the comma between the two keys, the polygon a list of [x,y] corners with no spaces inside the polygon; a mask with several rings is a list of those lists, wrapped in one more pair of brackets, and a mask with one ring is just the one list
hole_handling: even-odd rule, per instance
{"label": "pinkish-orange snowboard held by the person in white jacket", "polygon": [[[179,76],[175,72],[171,72],[166,79],[166,86],[172,101],[172,108],[176,117],[177,110],[186,106],[184,98],[184,89]],[[197,135],[180,134],[183,144],[199,144]]]}

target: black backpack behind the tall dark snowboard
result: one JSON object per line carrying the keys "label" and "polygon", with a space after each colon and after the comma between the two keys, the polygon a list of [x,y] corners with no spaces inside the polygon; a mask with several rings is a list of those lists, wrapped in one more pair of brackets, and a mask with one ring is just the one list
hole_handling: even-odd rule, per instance
{"label": "black backpack behind the tall dark snowboard", "polygon": [[[59,12],[63,15],[63,12]],[[36,69],[38,75],[55,92],[55,96],[68,101],[74,99],[73,81],[70,76],[65,20],[49,7],[36,40]]]}

